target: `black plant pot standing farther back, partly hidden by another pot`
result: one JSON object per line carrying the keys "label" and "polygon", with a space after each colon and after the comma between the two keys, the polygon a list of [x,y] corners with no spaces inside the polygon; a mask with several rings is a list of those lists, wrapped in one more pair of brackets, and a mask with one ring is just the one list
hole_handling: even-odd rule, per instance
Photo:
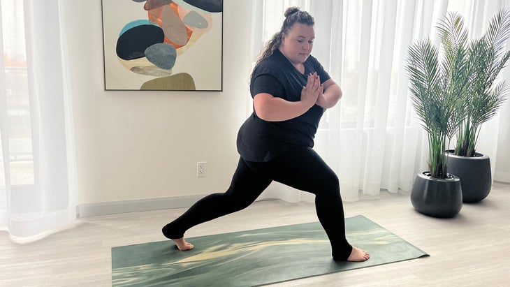
{"label": "black plant pot standing farther back, partly hidden by another pot", "polygon": [[[453,153],[453,150],[449,152]],[[478,152],[474,154],[475,156],[448,156],[448,172],[460,178],[462,200],[465,203],[477,203],[486,198],[493,182],[489,157]]]}

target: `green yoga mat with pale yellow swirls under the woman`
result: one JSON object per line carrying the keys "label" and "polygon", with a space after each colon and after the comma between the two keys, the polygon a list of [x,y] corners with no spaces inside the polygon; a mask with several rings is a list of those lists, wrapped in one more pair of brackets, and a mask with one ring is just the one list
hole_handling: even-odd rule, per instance
{"label": "green yoga mat with pale yellow swirls under the woman", "polygon": [[320,223],[112,248],[112,286],[257,286],[428,256],[367,219],[345,220],[349,242],[370,253],[363,263],[336,263]]}

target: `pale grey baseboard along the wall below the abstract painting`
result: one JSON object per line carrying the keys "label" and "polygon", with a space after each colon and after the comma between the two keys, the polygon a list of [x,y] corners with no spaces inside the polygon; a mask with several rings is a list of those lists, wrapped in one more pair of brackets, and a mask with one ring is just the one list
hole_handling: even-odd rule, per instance
{"label": "pale grey baseboard along the wall below the abstract painting", "polygon": [[78,206],[78,217],[120,214],[128,212],[147,212],[150,210],[186,208],[203,198],[196,196],[175,196],[171,198],[151,198],[140,200],[122,200],[108,203],[86,203]]}

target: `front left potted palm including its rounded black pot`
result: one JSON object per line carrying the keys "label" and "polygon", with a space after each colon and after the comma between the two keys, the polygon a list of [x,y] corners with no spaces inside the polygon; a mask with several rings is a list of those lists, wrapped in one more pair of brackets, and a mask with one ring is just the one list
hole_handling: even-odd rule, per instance
{"label": "front left potted palm including its rounded black pot", "polygon": [[[405,70],[409,77],[411,103],[421,125],[428,133],[429,170],[416,175],[411,189],[411,203],[422,214],[435,217],[456,216],[462,208],[460,179],[448,172],[449,154],[445,153],[464,118],[462,95],[467,88],[465,73],[465,35],[462,23],[449,14],[441,27],[449,29],[456,42],[439,49],[422,40],[408,49]],[[441,31],[441,30],[439,30]]]}

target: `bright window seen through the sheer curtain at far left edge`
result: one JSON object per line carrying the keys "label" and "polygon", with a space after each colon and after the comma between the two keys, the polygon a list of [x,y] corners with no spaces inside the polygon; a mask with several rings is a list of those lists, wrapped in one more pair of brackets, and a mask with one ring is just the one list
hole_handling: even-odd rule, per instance
{"label": "bright window seen through the sheer curtain at far left edge", "polygon": [[[27,56],[24,42],[23,1],[1,1],[1,27],[3,43],[3,66],[5,66],[5,109],[1,136],[4,137],[3,154],[0,149],[0,184],[6,178],[13,186],[34,184],[34,158],[32,156],[31,119],[27,77]],[[7,139],[7,140],[6,140]],[[6,175],[5,165],[9,165]]]}

